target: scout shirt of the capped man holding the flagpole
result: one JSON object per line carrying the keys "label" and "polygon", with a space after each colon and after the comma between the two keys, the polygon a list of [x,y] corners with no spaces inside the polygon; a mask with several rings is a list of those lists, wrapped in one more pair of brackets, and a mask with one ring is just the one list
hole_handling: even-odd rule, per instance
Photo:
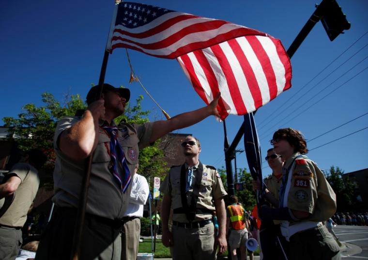
{"label": "scout shirt of the capped man holding the flagpole", "polygon": [[[52,201],[60,207],[78,207],[82,176],[85,174],[85,160],[74,160],[65,155],[57,146],[57,140],[63,130],[72,127],[80,119],[81,117],[79,116],[64,117],[56,127],[54,137],[56,154],[54,171],[55,195]],[[102,123],[103,121],[100,120],[100,126]],[[113,125],[115,125],[114,122],[112,123]],[[134,173],[135,164],[138,163],[139,149],[150,146],[149,140],[152,129],[153,122],[148,122],[143,126],[127,123],[122,123],[118,126],[117,139],[123,148],[131,174]],[[109,134],[101,127],[98,134],[98,145],[93,151],[92,158],[87,212],[108,219],[122,219],[129,204],[132,184],[129,185],[125,194],[123,194],[121,184],[110,172]],[[121,167],[120,163],[117,163],[117,168]]]}

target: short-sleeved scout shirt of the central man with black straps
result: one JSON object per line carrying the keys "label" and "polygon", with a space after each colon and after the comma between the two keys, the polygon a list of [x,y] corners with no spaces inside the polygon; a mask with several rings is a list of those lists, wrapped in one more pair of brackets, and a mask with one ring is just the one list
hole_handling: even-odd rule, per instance
{"label": "short-sleeved scout shirt of the central man with black straps", "polygon": [[[196,169],[193,170],[192,179],[192,184],[194,184],[196,183],[196,178],[202,178],[199,188],[197,209],[205,208],[211,211],[215,211],[214,200],[227,195],[227,193],[224,189],[224,186],[222,185],[220,175],[217,173],[216,169],[213,166],[203,164],[203,174],[202,176],[197,176],[198,165],[199,162],[194,165]],[[188,167],[189,165],[185,163],[185,175],[188,174]],[[166,175],[164,181],[161,184],[161,187],[159,188],[160,192],[171,197],[171,208],[173,210],[182,208],[182,198],[180,193],[181,169],[182,165],[171,167],[169,173]],[[190,187],[189,191],[186,193],[188,205],[191,202],[192,194],[193,189],[192,187]],[[196,214],[196,218],[194,221],[202,221],[209,218],[212,218],[211,214]],[[184,213],[173,214],[172,220],[181,223],[189,222]]]}

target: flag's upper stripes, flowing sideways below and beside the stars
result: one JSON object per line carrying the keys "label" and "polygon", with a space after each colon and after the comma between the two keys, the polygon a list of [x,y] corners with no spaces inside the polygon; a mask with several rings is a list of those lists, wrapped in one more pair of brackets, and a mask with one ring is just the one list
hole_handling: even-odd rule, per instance
{"label": "flag's upper stripes, flowing sideways below and beside the stars", "polygon": [[249,34],[267,35],[223,20],[172,12],[138,28],[114,26],[107,49],[111,52],[115,48],[135,49],[155,57],[174,59]]}

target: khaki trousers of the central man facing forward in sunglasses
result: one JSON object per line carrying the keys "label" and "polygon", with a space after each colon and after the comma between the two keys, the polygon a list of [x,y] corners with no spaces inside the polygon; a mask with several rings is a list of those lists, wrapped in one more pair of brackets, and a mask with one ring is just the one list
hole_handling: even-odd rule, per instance
{"label": "khaki trousers of the central man facing forward in sunglasses", "polygon": [[215,227],[208,223],[204,227],[171,228],[174,245],[170,247],[173,260],[215,260]]}

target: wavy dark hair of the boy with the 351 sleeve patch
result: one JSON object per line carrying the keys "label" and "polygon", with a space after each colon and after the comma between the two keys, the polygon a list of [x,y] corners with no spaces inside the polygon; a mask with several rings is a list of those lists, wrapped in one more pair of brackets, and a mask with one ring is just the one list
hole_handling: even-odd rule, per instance
{"label": "wavy dark hair of the boy with the 351 sleeve patch", "polygon": [[285,139],[291,146],[294,146],[294,152],[308,153],[307,141],[301,131],[292,128],[282,128],[274,133],[273,139],[277,137]]}

